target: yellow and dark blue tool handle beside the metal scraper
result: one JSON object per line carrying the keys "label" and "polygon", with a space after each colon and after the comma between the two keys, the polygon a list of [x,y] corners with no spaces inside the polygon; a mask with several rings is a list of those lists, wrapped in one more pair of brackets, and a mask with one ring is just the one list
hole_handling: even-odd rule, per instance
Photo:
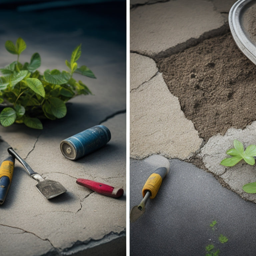
{"label": "yellow and dark blue tool handle beside the metal scraper", "polygon": [[7,157],[0,166],[0,204],[3,204],[12,183],[15,158]]}

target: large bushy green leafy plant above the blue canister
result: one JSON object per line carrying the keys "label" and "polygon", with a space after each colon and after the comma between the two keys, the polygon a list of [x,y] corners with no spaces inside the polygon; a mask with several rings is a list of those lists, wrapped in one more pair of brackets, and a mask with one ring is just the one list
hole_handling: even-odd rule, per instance
{"label": "large bushy green leafy plant above the blue canister", "polygon": [[40,119],[62,118],[67,113],[65,103],[69,99],[92,94],[82,81],[73,78],[73,73],[96,77],[88,67],[78,67],[81,44],[73,50],[70,61],[66,60],[69,71],[47,69],[43,74],[37,70],[41,65],[38,53],[32,55],[30,63],[19,62],[26,47],[22,38],[18,38],[16,44],[12,41],[5,43],[6,50],[17,55],[17,60],[0,69],[0,103],[6,105],[0,113],[0,123],[5,127],[14,122],[24,123],[31,128],[43,129]]}

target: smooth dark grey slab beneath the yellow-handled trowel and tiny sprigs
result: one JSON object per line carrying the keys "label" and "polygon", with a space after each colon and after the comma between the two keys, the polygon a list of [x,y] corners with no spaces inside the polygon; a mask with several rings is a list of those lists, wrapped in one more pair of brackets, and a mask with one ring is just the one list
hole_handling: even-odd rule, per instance
{"label": "smooth dark grey slab beneath the yellow-handled trowel and tiny sprigs", "polygon": [[[158,194],[130,225],[130,255],[206,255],[208,244],[219,255],[253,255],[255,204],[222,187],[209,172],[177,159],[169,162]],[[131,159],[130,209],[142,200],[142,187],[154,170],[145,160]],[[220,234],[226,243],[219,242]]]}

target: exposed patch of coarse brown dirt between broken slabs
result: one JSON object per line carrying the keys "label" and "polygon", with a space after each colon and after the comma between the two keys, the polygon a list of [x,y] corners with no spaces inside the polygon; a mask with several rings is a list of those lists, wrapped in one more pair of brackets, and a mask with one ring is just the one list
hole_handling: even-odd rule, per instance
{"label": "exposed patch of coarse brown dirt between broken slabs", "polygon": [[256,66],[230,33],[164,58],[157,66],[205,141],[256,120]]}

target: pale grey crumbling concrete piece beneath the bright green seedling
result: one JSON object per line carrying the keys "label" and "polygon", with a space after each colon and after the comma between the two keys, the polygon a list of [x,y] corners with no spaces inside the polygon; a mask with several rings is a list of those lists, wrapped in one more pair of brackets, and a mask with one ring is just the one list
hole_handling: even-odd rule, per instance
{"label": "pale grey crumbling concrete piece beneath the bright green seedling", "polygon": [[217,134],[211,137],[199,156],[202,157],[205,167],[221,177],[233,191],[242,198],[256,203],[256,194],[248,194],[242,190],[244,184],[256,181],[255,166],[247,164],[244,160],[232,167],[220,165],[224,158],[230,157],[226,151],[234,147],[235,139],[241,141],[245,149],[251,144],[256,144],[255,133],[256,121],[244,130],[230,128],[224,136]]}

